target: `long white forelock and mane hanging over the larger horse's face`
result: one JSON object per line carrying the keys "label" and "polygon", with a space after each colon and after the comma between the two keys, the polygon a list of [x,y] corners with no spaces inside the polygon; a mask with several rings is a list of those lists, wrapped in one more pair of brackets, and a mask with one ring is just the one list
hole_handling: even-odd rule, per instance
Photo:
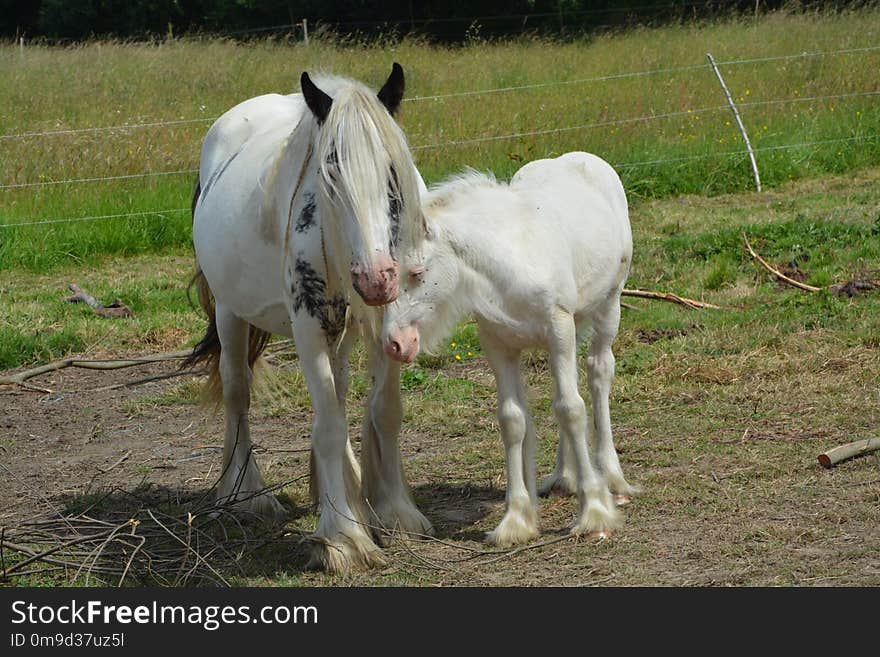
{"label": "long white forelock and mane hanging over the larger horse's face", "polygon": [[[316,83],[333,97],[316,149],[323,185],[336,202],[349,205],[361,222],[368,253],[387,248],[389,188],[402,201],[399,244],[402,248],[417,244],[424,237],[419,186],[403,131],[375,92],[361,83],[342,78],[319,78]],[[325,169],[334,152],[339,168],[337,180],[332,180]],[[396,180],[390,175],[391,167]],[[381,222],[378,231],[377,226],[364,225],[375,216],[388,219]]]}

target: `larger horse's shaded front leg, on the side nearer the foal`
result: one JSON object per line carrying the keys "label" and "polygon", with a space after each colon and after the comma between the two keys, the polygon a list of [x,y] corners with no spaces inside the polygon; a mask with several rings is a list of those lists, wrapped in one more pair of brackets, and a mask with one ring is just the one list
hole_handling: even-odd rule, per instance
{"label": "larger horse's shaded front leg, on the side nearer the foal", "polygon": [[378,343],[367,344],[373,388],[364,409],[361,432],[363,492],[375,524],[389,532],[431,534],[433,527],[416,508],[400,460],[398,435],[403,419],[400,364]]}

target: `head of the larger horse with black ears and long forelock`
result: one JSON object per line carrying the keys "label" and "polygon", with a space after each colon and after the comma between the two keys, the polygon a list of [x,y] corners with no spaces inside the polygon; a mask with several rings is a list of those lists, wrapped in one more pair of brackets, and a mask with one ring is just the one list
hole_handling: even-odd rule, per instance
{"label": "head of the larger horse with black ears and long forelock", "polygon": [[351,80],[329,80],[331,97],[307,73],[301,85],[317,124],[328,251],[366,304],[387,304],[400,289],[397,251],[417,239],[421,226],[421,178],[393,119],[403,99],[403,69],[395,63],[378,94]]}

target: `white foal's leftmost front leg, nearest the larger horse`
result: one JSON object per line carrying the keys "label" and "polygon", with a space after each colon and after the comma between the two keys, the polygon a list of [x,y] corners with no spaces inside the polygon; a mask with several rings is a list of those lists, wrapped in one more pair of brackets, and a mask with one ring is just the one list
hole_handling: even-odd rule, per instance
{"label": "white foal's leftmost front leg, nearest the larger horse", "polygon": [[525,543],[538,533],[535,496],[534,428],[524,404],[517,349],[510,349],[488,332],[481,331],[480,344],[498,388],[498,423],[504,440],[507,465],[507,495],[504,518],[486,535],[499,547]]}

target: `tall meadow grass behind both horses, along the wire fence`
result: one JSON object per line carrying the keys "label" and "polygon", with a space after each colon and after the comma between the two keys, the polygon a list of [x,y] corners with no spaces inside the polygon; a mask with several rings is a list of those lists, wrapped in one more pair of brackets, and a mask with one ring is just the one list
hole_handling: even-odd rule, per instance
{"label": "tall meadow grass behind both horses, along the wire fence", "polygon": [[[401,122],[429,182],[465,165],[503,178],[528,160],[588,150],[618,167],[633,200],[744,190],[752,183],[742,140],[705,65],[705,53],[730,62],[805,48],[878,45],[877,9],[779,13],[755,21],[638,29],[574,43],[525,38],[440,47],[413,39],[383,45],[313,40],[304,46],[184,40],[35,46],[23,53],[5,45],[0,46],[2,135],[203,120],[0,139],[0,184],[193,169],[211,120],[237,102],[262,93],[294,92],[302,70],[340,72],[378,87],[391,62],[399,61],[411,99]],[[668,70],[682,67],[692,68]],[[880,51],[726,64],[722,70],[742,103],[765,185],[880,162],[877,96],[796,101],[880,91]],[[643,71],[662,72],[609,78]],[[418,99],[543,83],[551,84]],[[770,100],[787,102],[749,104]],[[611,123],[671,113],[678,115]],[[597,123],[602,125],[450,144]],[[778,147],[784,148],[766,150]],[[0,224],[186,208],[193,178],[179,174],[2,189]],[[157,251],[188,240],[184,212],[0,228],[0,269],[38,270],[98,254]]]}

